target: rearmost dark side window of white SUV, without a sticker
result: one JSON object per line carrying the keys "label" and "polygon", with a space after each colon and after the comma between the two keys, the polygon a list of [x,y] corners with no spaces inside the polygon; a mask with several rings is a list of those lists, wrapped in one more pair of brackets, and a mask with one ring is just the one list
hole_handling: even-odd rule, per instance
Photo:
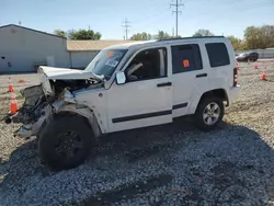
{"label": "rearmost dark side window of white SUV, without a sticker", "polygon": [[220,67],[230,64],[227,47],[224,43],[206,44],[210,67]]}

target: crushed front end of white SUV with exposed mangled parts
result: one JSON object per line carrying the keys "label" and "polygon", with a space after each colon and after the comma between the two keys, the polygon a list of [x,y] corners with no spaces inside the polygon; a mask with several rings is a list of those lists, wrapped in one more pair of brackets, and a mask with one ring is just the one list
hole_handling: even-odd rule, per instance
{"label": "crushed front end of white SUV with exposed mangled parts", "polygon": [[[25,99],[23,106],[14,115],[8,115],[5,123],[20,123],[22,126],[14,131],[14,136],[30,138],[38,136],[44,124],[50,121],[54,114],[61,111],[88,114],[91,113],[87,105],[77,105],[73,91],[94,85],[87,80],[48,80],[43,73],[41,84],[25,88],[21,91]],[[92,85],[93,84],[93,85]],[[76,106],[77,105],[77,106]],[[80,107],[80,108],[79,108]],[[92,114],[89,114],[90,116]],[[90,116],[88,118],[90,118]]]}

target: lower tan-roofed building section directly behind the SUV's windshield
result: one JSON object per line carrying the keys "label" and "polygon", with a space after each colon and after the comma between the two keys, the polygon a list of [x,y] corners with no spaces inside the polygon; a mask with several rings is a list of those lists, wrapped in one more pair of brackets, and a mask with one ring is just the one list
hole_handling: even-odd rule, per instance
{"label": "lower tan-roofed building section directly behind the SUV's windshield", "polygon": [[103,48],[133,41],[67,41],[71,68],[85,68]]}

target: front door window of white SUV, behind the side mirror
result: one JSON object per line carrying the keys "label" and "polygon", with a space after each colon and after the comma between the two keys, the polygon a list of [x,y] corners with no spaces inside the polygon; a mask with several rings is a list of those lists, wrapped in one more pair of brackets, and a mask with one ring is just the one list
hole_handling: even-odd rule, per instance
{"label": "front door window of white SUV, behind the side mirror", "polygon": [[167,49],[140,52],[127,66],[125,75],[128,82],[167,77]]}

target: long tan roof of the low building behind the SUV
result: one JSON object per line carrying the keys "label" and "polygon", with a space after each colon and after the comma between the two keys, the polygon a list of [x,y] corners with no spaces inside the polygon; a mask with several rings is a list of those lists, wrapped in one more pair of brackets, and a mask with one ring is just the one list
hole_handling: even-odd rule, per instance
{"label": "long tan roof of the low building behind the SUV", "polygon": [[126,43],[136,43],[136,41],[67,41],[69,52],[102,50],[109,46]]}

